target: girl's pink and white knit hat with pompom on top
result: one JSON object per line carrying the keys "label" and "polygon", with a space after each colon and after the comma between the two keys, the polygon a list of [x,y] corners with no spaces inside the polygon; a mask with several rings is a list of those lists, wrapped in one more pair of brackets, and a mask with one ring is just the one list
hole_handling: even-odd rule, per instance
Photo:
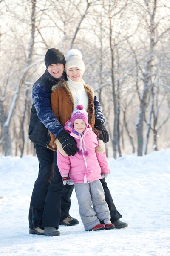
{"label": "girl's pink and white knit hat with pompom on top", "polygon": [[75,109],[71,114],[72,127],[76,119],[82,119],[85,122],[86,127],[88,126],[88,113],[83,108],[83,105],[77,105],[77,109]]}

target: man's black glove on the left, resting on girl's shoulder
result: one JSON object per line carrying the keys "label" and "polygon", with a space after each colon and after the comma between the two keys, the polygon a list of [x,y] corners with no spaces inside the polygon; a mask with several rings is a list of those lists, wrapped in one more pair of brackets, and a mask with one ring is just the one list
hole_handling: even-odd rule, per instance
{"label": "man's black glove on the left, resting on girl's shoulder", "polygon": [[68,154],[68,156],[74,156],[79,151],[79,148],[77,148],[76,140],[66,131],[62,131],[57,136],[57,139],[61,143],[62,148],[64,149],[65,153]]}

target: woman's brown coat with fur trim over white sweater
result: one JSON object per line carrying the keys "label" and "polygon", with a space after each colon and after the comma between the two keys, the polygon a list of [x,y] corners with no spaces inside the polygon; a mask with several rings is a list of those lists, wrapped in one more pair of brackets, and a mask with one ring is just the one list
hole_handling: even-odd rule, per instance
{"label": "woman's brown coat with fur trim over white sweater", "polygon": [[[84,84],[84,88],[88,96],[88,123],[92,126],[93,131],[99,136],[99,131],[94,129],[94,91],[87,84]],[[65,123],[71,119],[71,113],[75,106],[71,90],[63,79],[52,87],[51,108],[60,124],[64,127]],[[51,134],[51,132],[49,133],[51,141],[48,148],[56,150],[57,146],[54,143],[56,137]]]}

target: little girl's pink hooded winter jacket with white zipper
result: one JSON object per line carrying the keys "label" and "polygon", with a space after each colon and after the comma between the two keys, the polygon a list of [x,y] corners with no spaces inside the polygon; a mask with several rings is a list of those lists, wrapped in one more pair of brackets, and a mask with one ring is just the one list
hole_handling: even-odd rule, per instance
{"label": "little girl's pink hooded winter jacket with white zipper", "polygon": [[[79,148],[79,135],[74,134],[70,126],[71,120],[65,123],[65,131],[75,138],[77,147]],[[74,183],[92,182],[101,179],[101,173],[110,173],[105,154],[105,145],[101,140],[97,140],[97,136],[92,131],[91,125],[88,124],[83,138],[86,151],[89,153],[87,157],[78,153],[69,157],[62,149],[61,144],[60,146],[59,144],[57,145],[57,165],[59,171],[61,175],[69,175]]]}

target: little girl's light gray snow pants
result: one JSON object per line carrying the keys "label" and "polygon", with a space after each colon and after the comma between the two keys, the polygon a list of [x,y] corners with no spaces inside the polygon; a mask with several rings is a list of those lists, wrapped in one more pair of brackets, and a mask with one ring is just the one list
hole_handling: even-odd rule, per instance
{"label": "little girl's light gray snow pants", "polygon": [[105,224],[111,223],[111,215],[100,180],[75,183],[74,188],[79,203],[79,214],[86,231],[100,224],[100,221],[104,221]]}

